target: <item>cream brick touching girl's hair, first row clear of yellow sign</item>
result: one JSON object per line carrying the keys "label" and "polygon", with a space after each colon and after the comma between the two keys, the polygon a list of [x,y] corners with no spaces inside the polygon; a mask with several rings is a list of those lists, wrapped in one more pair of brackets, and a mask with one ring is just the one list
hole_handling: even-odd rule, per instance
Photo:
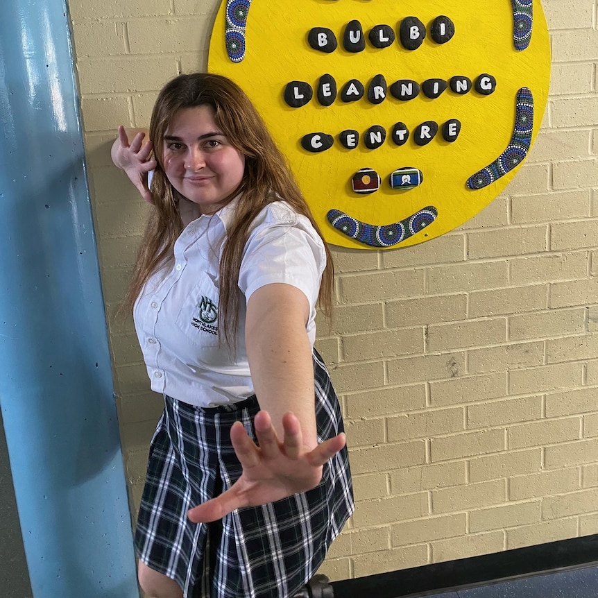
{"label": "cream brick touching girl's hair, first row clear of yellow sign", "polygon": [[371,303],[421,295],[424,271],[343,275],[339,282],[342,303]]}

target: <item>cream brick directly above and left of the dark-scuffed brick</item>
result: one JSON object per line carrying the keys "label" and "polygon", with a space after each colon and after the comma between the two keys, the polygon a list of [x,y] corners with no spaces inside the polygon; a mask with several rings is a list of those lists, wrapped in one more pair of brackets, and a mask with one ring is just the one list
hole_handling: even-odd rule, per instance
{"label": "cream brick directly above and left of the dark-scuffed brick", "polygon": [[396,357],[424,351],[424,329],[402,328],[345,336],[341,341],[345,361]]}

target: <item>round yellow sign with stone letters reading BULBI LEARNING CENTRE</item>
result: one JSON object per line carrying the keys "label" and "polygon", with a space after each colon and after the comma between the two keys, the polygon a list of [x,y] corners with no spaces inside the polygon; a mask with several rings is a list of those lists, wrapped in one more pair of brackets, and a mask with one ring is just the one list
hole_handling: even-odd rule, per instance
{"label": "round yellow sign with stone letters reading BULBI LEARNING CENTRE", "polygon": [[515,176],[547,103],[549,35],[539,0],[223,0],[208,68],[262,114],[328,242],[397,248]]}

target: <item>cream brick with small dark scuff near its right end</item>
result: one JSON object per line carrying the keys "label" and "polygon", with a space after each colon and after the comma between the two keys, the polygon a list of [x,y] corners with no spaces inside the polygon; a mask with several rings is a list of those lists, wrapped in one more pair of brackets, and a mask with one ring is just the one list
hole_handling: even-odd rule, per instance
{"label": "cream brick with small dark scuff near its right end", "polygon": [[423,355],[388,361],[388,383],[407,384],[454,378],[465,373],[465,353]]}

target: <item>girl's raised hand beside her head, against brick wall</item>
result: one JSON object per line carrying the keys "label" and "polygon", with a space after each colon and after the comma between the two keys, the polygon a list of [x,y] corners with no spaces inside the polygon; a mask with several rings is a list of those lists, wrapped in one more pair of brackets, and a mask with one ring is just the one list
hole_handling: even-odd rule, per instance
{"label": "girl's raised hand beside her head, against brick wall", "polygon": [[143,143],[145,133],[137,133],[129,144],[125,128],[119,126],[119,136],[114,144],[110,155],[112,162],[126,172],[133,185],[139,189],[144,200],[153,203],[153,198],[148,187],[148,172],[155,169],[157,162],[150,160],[152,153],[151,142]]}

